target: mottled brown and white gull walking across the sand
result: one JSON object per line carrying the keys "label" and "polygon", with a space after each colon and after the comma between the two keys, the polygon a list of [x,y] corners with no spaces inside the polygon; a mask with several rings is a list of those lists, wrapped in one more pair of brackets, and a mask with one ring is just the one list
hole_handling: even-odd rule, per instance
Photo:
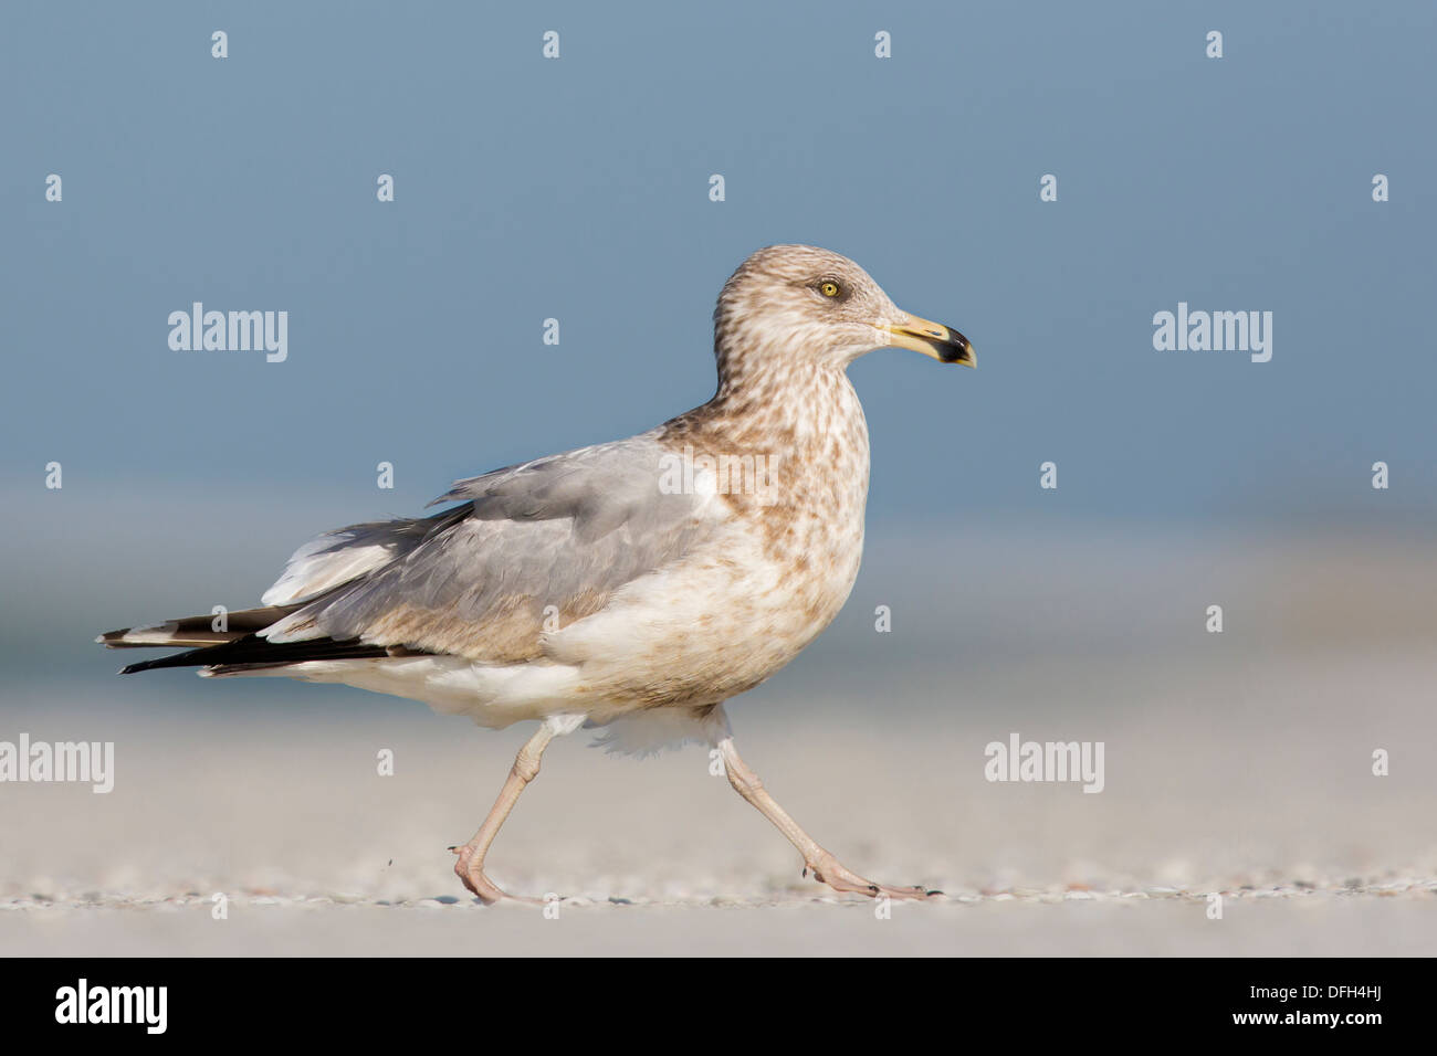
{"label": "mottled brown and white gull walking across the sand", "polygon": [[[283,675],[427,703],[503,728],[537,721],[474,838],[450,848],[484,904],[494,836],[579,727],[614,751],[717,749],[730,784],[838,892],[927,898],[839,862],[734,749],[724,701],[793,659],[848,599],[864,547],[868,425],[846,368],[897,345],[976,363],[969,341],[901,310],[852,260],[769,246],[714,310],[718,388],[641,432],[456,481],[433,516],[310,540],[262,608],[101,635],[182,647],[122,674]],[[523,899],[532,901],[532,899]]]}

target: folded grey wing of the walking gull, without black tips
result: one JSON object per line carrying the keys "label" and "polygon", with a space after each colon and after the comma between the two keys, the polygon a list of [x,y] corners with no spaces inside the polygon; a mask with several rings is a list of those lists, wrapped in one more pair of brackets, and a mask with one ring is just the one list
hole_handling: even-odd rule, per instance
{"label": "folded grey wing of the walking gull, without black tips", "polygon": [[320,536],[266,592],[267,605],[305,603],[264,636],[532,659],[545,629],[598,612],[714,530],[698,499],[661,487],[670,458],[644,434],[457,481],[435,503],[464,506],[437,517]]}

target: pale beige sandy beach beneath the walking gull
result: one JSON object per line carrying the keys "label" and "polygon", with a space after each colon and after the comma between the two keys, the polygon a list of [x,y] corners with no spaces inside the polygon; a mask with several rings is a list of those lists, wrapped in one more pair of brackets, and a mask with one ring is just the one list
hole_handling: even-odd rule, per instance
{"label": "pale beige sandy beach beneath the walking gull", "polygon": [[[970,671],[964,691],[983,707],[943,713],[931,672],[907,668],[910,694],[869,708],[894,671],[836,678],[810,664],[737,703],[734,726],[770,790],[836,853],[946,892],[887,915],[803,879],[694,746],[632,760],[585,747],[583,731],[560,741],[491,856],[497,882],[549,897],[549,911],[486,908],[445,848],[470,835],[523,730],[184,675],[116,680],[105,710],[60,721],[39,687],[11,701],[10,723],[114,740],[115,787],[4,789],[0,948],[1431,954],[1437,730],[1401,688],[1431,684],[1434,668],[1382,654],[1280,671],[1069,659]],[[826,704],[800,698],[800,682]],[[1262,708],[1243,707],[1257,695]],[[1214,698],[1234,707],[1214,718]],[[986,780],[984,744],[1009,730],[1101,737],[1104,792]],[[1368,746],[1387,740],[1394,772],[1375,777]],[[392,776],[378,773],[385,750]]]}

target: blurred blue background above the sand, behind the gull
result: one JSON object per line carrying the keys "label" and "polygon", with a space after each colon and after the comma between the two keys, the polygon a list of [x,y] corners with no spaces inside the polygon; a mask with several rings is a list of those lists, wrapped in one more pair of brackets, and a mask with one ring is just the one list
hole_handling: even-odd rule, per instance
{"label": "blurred blue background above the sand, behind the gull", "polygon": [[[1431,542],[1430,4],[0,19],[11,670],[108,674],[96,631],[253,603],[318,530],[703,402],[717,290],[776,241],[852,256],[980,356],[852,371],[871,543],[833,662],[897,648],[871,624],[900,595],[930,659],[1063,649],[1200,629],[1207,595],[1178,578],[1250,586],[1298,537],[1332,537],[1308,552],[1328,569]],[[167,316],[194,300],[287,310],[287,362],[171,351]],[[1272,362],[1154,351],[1154,312],[1180,300],[1273,312]],[[1224,557],[1234,540],[1257,556]],[[1407,626],[1427,609],[1388,579]]]}

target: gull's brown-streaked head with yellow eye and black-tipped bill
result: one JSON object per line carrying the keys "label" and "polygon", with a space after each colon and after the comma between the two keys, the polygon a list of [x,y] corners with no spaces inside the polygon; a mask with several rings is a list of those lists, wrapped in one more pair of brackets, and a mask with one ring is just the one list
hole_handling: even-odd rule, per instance
{"label": "gull's brown-streaked head with yellow eye and black-tipped bill", "polygon": [[714,309],[720,374],[777,363],[845,368],[898,345],[941,363],[974,366],[969,339],[898,307],[868,272],[816,246],[767,246],[739,266]]}

